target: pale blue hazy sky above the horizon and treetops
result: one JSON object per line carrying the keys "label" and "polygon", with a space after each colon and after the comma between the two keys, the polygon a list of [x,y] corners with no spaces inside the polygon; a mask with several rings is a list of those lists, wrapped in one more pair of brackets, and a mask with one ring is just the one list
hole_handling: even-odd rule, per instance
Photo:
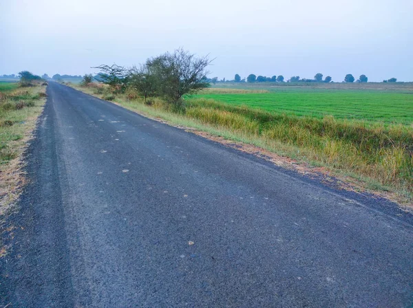
{"label": "pale blue hazy sky above the horizon and treetops", "polygon": [[178,47],[209,77],[413,81],[413,0],[0,0],[0,75],[83,75]]}

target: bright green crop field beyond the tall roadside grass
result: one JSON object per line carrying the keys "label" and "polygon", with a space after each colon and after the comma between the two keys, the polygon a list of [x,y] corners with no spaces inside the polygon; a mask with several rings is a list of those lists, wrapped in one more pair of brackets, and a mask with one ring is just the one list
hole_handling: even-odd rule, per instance
{"label": "bright green crop field beyond the tall roadside grass", "polygon": [[[371,90],[279,88],[268,93],[222,94],[211,89],[196,97],[288,115],[354,119],[386,124],[413,123],[413,93]],[[228,89],[229,90],[229,89]]]}

